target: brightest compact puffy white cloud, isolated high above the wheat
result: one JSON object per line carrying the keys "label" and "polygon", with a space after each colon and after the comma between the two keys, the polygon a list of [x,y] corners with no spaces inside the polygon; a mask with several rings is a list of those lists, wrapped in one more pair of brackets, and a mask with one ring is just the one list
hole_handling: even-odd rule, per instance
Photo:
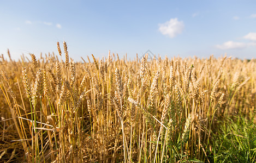
{"label": "brightest compact puffy white cloud, isolated high above the wheat", "polygon": [[178,34],[181,34],[184,29],[183,21],[178,21],[178,18],[171,18],[170,21],[166,21],[163,24],[158,24],[159,31],[163,35],[168,35],[173,38]]}

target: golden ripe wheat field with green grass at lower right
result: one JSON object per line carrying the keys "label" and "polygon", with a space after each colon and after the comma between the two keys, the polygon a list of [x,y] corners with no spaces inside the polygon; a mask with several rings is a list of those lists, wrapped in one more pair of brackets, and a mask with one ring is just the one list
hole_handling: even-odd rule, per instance
{"label": "golden ripe wheat field with green grass at lower right", "polygon": [[1,56],[1,162],[255,162],[255,59],[57,48]]}

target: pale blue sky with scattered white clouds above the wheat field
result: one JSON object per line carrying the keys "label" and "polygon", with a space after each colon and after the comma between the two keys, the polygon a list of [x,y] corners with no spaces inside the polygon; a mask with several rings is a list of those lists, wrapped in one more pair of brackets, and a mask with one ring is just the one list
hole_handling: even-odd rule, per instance
{"label": "pale blue sky with scattered white clouds above the wheat field", "polygon": [[256,1],[2,1],[0,53],[121,57],[256,56]]}

